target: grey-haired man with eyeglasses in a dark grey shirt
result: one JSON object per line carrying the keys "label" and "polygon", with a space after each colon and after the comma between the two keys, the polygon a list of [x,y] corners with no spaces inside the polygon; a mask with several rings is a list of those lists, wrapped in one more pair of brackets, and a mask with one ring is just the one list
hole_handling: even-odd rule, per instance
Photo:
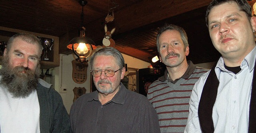
{"label": "grey-haired man with eyeglasses in a dark grey shirt", "polygon": [[89,64],[97,91],[73,103],[73,133],[160,133],[156,111],[148,99],[120,82],[125,67],[118,50],[102,48],[92,55]]}

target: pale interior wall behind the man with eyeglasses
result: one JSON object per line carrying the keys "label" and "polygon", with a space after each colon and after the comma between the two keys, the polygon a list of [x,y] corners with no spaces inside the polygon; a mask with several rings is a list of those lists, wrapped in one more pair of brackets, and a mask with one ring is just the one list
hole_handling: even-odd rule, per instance
{"label": "pale interior wall behind the man with eyeglasses", "polygon": [[[127,67],[141,69],[150,66],[150,63],[148,62],[144,62],[142,60],[133,58],[125,54],[122,55],[124,56],[124,61],[127,64]],[[85,81],[85,83],[78,84],[75,83],[72,79],[71,62],[74,59],[75,56],[73,54],[70,54],[68,56],[60,54],[60,67],[55,67],[54,69],[52,69],[52,84],[54,85],[55,90],[60,93],[68,113],[70,112],[70,107],[74,99],[74,87],[85,87],[86,93],[90,93],[91,79],[89,67],[87,69],[87,80]],[[66,91],[63,91],[63,89],[66,89]]]}

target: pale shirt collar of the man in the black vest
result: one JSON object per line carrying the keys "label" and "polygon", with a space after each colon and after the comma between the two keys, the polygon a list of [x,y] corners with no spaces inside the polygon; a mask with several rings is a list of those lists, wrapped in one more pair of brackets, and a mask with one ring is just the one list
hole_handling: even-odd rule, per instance
{"label": "pale shirt collar of the man in the black vest", "polygon": [[[241,62],[240,67],[244,68],[246,66],[249,67],[250,72],[254,69],[254,65],[255,65],[255,59],[256,59],[256,47],[254,47],[252,49],[252,51],[244,58],[244,60]],[[220,57],[220,59],[217,62],[217,65],[215,67],[215,72],[216,75],[219,77],[220,75],[220,71],[228,71],[225,66],[224,66],[224,60],[222,57]]]}

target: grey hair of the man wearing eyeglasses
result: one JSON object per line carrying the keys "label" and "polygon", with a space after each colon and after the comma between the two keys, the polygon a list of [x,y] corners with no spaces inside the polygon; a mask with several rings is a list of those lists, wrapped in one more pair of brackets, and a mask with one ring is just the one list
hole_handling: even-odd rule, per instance
{"label": "grey hair of the man wearing eyeglasses", "polygon": [[120,67],[120,69],[124,67],[124,57],[122,56],[122,54],[113,47],[106,47],[98,50],[91,56],[89,61],[91,70],[92,70],[92,65],[94,63],[94,58],[96,56],[102,56],[102,55],[112,56],[115,59],[116,64]]}

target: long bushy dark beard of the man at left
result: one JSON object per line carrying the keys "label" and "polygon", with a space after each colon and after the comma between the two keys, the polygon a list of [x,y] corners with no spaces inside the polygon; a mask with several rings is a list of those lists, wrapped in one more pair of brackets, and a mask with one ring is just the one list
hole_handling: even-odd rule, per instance
{"label": "long bushy dark beard of the man at left", "polygon": [[0,83],[4,87],[7,87],[13,97],[25,98],[36,90],[40,76],[40,64],[38,63],[35,71],[22,66],[12,68],[9,63],[9,58],[4,58],[0,75],[2,75]]}

